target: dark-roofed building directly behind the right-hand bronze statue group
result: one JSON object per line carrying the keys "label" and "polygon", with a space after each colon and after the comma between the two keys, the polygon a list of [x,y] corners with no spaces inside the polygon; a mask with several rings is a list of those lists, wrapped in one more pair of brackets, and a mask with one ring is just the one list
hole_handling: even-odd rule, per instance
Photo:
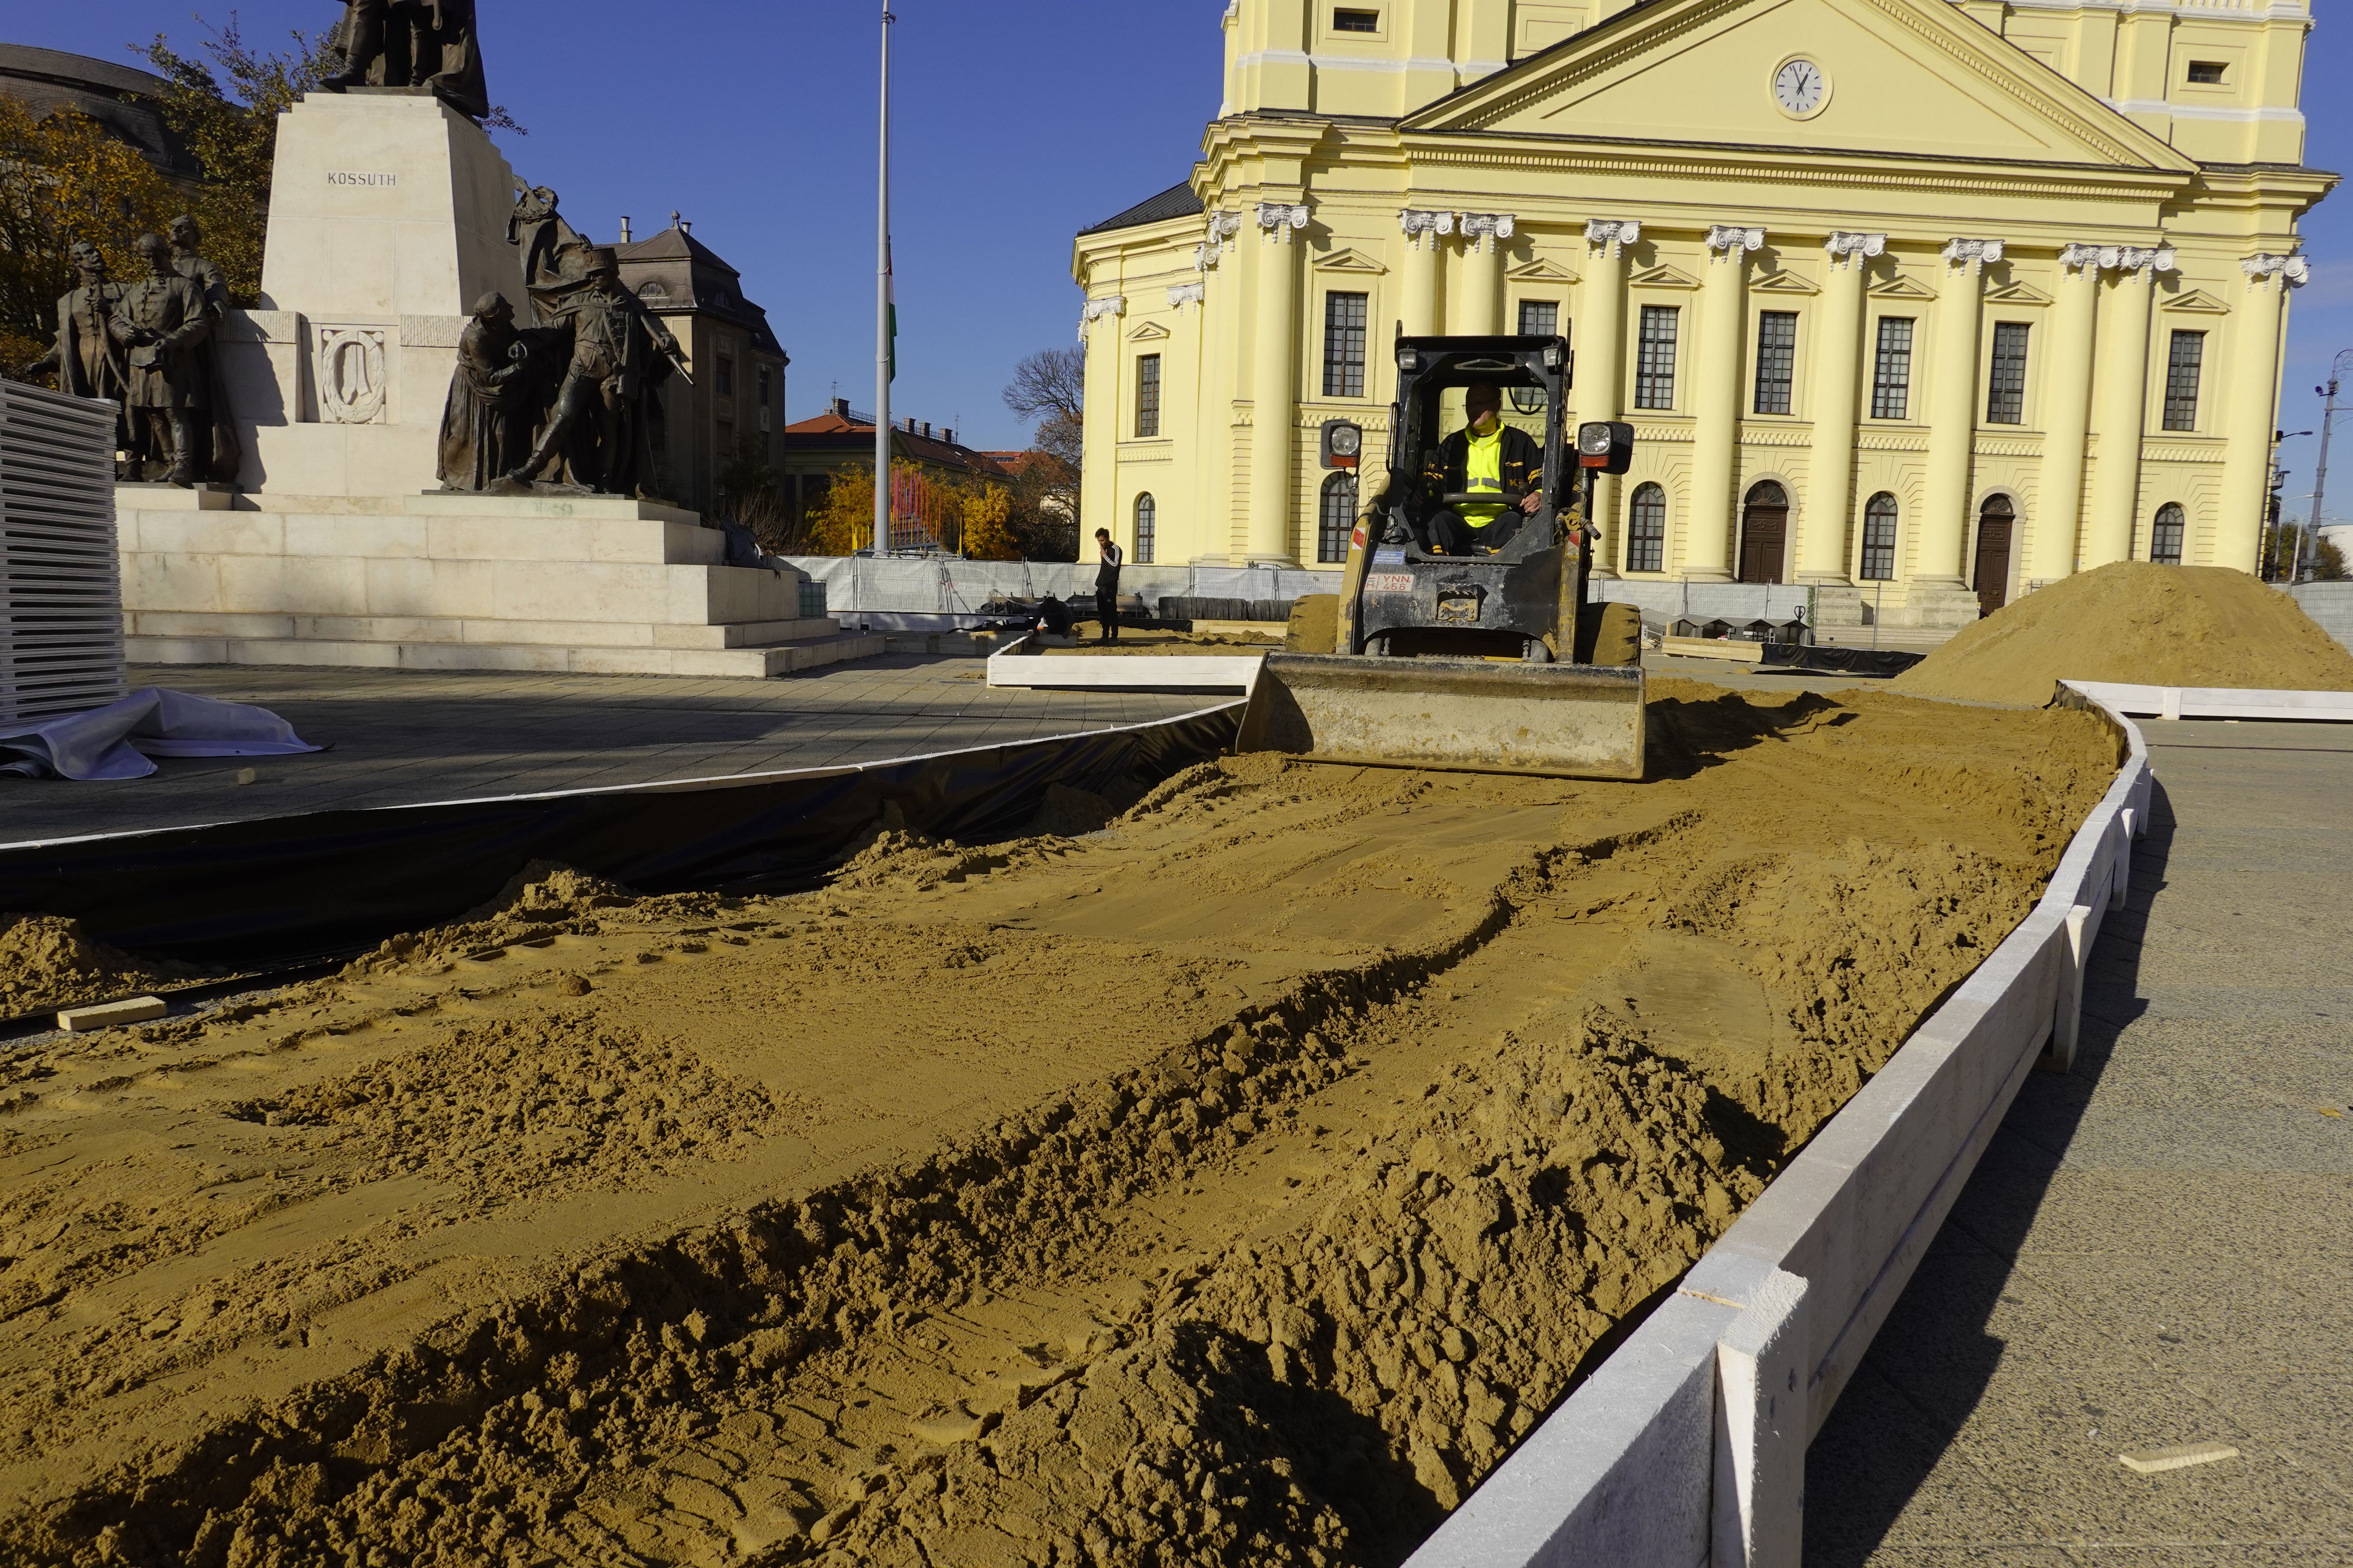
{"label": "dark-roofed building directly behind the right-hand bronze statue group", "polygon": [[621,284],[661,317],[694,374],[694,386],[671,378],[664,388],[654,470],[664,494],[708,512],[729,458],[776,465],[791,357],[767,310],[744,299],[741,275],[694,237],[692,223],[673,212],[649,240],[633,240],[626,223],[614,244]]}

